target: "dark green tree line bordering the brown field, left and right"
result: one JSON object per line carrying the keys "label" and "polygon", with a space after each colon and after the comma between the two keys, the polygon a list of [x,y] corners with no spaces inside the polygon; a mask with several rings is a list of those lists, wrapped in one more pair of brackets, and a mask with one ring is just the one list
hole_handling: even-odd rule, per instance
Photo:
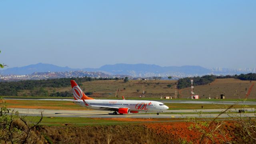
{"label": "dark green tree line bordering the brown field, left and right", "polygon": [[[237,78],[240,80],[256,80],[255,73],[249,74],[240,74],[240,75],[226,75],[226,76],[214,76],[206,75],[202,77],[192,77],[194,80],[193,85],[205,85],[213,82],[216,78]],[[0,96],[17,96],[20,90],[29,90],[31,96],[62,96],[68,97],[72,96],[70,92],[52,92],[48,93],[46,88],[62,88],[70,86],[70,80],[75,80],[79,86],[82,86],[82,82],[88,82],[93,80],[119,80],[120,78],[92,78],[92,77],[83,77],[83,78],[56,78],[56,79],[47,79],[47,80],[21,80],[15,82],[0,82]],[[191,78],[180,78],[178,80],[177,88],[187,88],[191,86]],[[128,78],[124,79],[126,82]]]}

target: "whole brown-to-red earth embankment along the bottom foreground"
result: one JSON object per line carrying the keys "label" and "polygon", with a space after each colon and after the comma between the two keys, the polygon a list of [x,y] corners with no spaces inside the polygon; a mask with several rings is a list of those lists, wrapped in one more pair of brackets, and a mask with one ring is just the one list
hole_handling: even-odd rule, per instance
{"label": "whole brown-to-red earth embankment along the bottom foreground", "polygon": [[[196,128],[189,128],[191,124],[192,122],[166,122],[110,126],[39,126],[38,130],[53,143],[106,144],[108,141],[110,144],[199,143],[202,133]],[[242,132],[242,128],[237,128],[235,125],[234,122],[226,121],[219,127],[224,132],[225,138],[219,136],[214,142],[205,138],[203,143],[207,140],[208,144],[225,141],[244,143],[243,138],[248,137]],[[204,129],[207,131],[207,128]]]}

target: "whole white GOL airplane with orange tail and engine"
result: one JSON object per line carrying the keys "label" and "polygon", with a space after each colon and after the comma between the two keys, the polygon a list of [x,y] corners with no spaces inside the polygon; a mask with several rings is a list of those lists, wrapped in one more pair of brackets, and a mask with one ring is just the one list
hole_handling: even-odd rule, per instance
{"label": "whole white GOL airplane with orange tail and engine", "polygon": [[138,112],[160,112],[168,110],[168,106],[165,106],[161,102],[150,100],[96,100],[90,98],[84,94],[81,88],[76,84],[74,80],[70,80],[75,104],[91,108],[94,110],[109,110],[114,111],[113,114],[129,114]]}

